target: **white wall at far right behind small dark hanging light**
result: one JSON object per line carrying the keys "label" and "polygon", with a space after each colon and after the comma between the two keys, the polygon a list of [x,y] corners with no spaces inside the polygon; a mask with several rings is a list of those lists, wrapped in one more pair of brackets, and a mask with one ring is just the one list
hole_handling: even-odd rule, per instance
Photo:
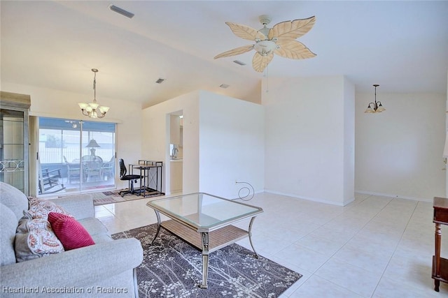
{"label": "white wall at far right behind small dark hanging light", "polygon": [[384,94],[385,112],[365,114],[371,94],[356,94],[356,191],[432,202],[445,194],[444,94]]}

